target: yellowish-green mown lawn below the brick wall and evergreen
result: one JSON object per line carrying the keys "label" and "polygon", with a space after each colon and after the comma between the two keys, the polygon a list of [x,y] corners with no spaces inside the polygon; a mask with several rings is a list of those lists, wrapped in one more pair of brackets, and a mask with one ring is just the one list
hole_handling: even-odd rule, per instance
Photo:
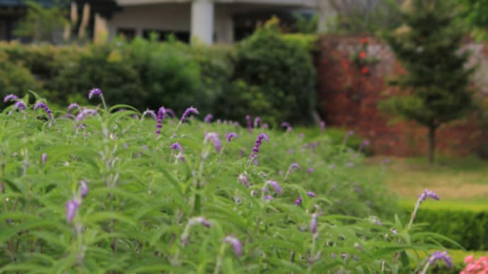
{"label": "yellowish-green mown lawn below the brick wall and evergreen", "polygon": [[[383,169],[388,188],[400,201],[414,201],[424,189],[438,193],[441,201],[432,206],[462,204],[488,209],[488,161],[475,157],[439,159],[429,165],[422,158],[371,157],[367,169]],[[388,161],[387,161],[388,162]]]}

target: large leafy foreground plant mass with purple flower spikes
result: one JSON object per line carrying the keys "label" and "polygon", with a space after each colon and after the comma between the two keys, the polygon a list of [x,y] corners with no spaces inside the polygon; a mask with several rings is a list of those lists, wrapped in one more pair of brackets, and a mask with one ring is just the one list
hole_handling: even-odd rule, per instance
{"label": "large leafy foreground plant mass with purple flower spikes", "polygon": [[367,216],[393,201],[327,133],[36,101],[0,113],[1,273],[404,273],[441,248]]}

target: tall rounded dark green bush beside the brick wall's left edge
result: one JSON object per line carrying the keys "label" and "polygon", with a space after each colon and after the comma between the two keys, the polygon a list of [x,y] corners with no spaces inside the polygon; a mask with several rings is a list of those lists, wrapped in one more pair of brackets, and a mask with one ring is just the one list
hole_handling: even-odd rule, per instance
{"label": "tall rounded dark green bush beside the brick wall's left edge", "polygon": [[269,22],[238,44],[236,58],[234,78],[260,88],[277,122],[312,123],[316,83],[307,47],[285,40]]}

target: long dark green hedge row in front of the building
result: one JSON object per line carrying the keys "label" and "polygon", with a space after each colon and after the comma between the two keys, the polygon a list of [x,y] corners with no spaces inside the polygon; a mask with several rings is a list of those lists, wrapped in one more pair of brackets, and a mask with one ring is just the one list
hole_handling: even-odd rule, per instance
{"label": "long dark green hedge row in front of the building", "polygon": [[[25,67],[23,74],[34,76],[37,83],[31,90],[49,95],[58,105],[83,102],[80,94],[97,87],[109,102],[139,110],[161,104],[182,112],[195,105],[215,119],[242,121],[252,114],[277,125],[310,124],[314,42],[312,35],[284,36],[267,27],[233,47],[135,39],[85,47],[0,43],[0,50],[11,63]],[[9,70],[0,80],[19,78],[15,73]],[[12,89],[25,94],[24,87]]]}

